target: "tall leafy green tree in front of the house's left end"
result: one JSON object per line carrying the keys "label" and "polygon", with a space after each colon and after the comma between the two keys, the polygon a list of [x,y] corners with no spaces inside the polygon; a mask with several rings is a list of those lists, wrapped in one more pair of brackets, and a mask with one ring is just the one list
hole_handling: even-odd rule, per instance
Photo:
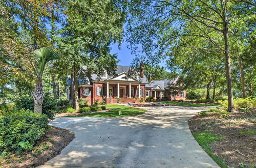
{"label": "tall leafy green tree in front of the house's left end", "polygon": [[[118,1],[68,1],[60,30],[58,62],[63,75],[73,74],[73,107],[78,110],[78,78],[92,73],[114,74],[117,60],[110,45],[122,40],[124,13]],[[82,68],[86,66],[86,68]],[[100,78],[100,77],[99,77]],[[71,79],[72,81],[72,79]]]}

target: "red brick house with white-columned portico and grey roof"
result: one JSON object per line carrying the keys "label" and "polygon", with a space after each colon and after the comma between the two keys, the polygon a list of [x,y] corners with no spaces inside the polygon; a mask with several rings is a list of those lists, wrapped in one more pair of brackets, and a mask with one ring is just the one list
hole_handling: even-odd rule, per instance
{"label": "red brick house with white-columned portico and grey roof", "polygon": [[[155,99],[167,98],[169,100],[185,99],[186,91],[172,95],[166,92],[168,85],[176,85],[175,80],[157,80],[148,82],[142,72],[133,72],[129,76],[129,66],[117,66],[116,76],[109,76],[106,72],[97,79],[97,75],[89,78],[79,79],[78,81],[78,97],[88,99],[88,104],[93,104],[96,100],[106,100],[106,103],[117,103],[116,98],[120,98],[120,102],[132,102],[135,97],[138,99],[146,97],[154,97]],[[70,98],[70,80],[68,80],[67,99]]]}

